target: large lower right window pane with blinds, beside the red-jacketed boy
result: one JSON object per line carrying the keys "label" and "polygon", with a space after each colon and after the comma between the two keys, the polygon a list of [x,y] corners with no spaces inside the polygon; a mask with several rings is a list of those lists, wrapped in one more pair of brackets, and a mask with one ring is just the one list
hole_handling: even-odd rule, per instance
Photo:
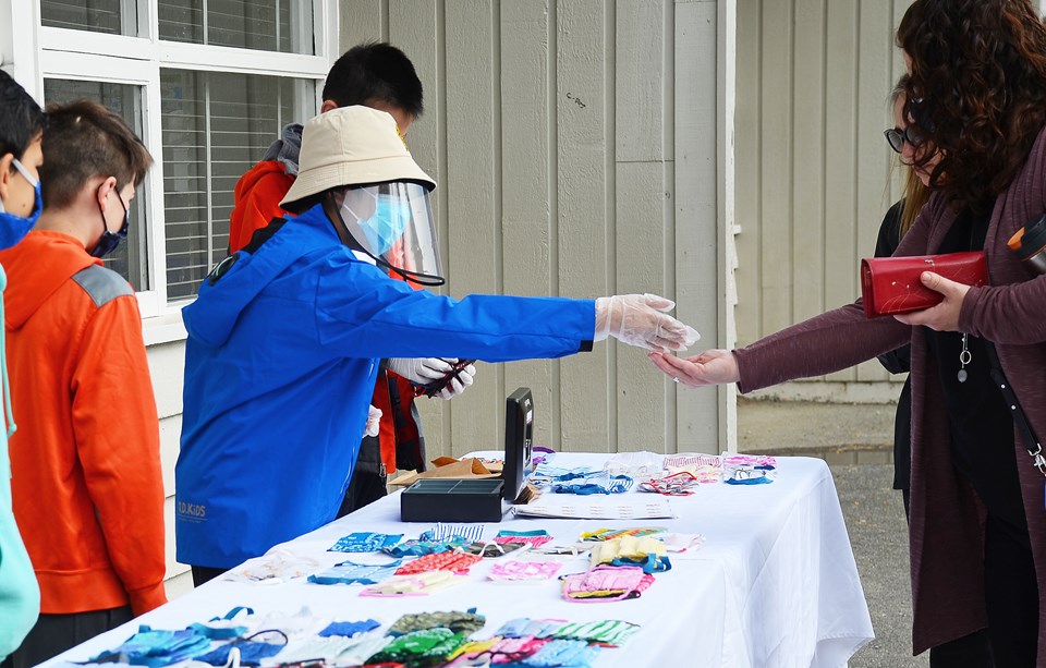
{"label": "large lower right window pane with blinds, beside the red-jacketed boy", "polygon": [[276,76],[160,70],[167,295],[191,297],[229,248],[233,189],[315,84]]}

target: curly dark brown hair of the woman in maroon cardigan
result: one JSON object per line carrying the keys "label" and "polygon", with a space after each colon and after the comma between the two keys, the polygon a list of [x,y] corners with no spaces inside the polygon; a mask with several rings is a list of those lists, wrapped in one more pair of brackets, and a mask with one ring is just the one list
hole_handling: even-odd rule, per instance
{"label": "curly dark brown hair of the woman in maroon cardigan", "polygon": [[916,0],[897,28],[910,125],[941,154],[931,187],[984,212],[1046,123],[1046,26],[1030,0]]}

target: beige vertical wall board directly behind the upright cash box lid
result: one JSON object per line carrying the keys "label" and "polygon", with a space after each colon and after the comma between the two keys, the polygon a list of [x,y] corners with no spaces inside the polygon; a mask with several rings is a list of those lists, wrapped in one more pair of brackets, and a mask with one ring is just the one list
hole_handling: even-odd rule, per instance
{"label": "beige vertical wall board directly behind the upright cash box lid", "polygon": [[[548,11],[546,0],[501,3],[501,258],[507,294],[551,294],[549,247]],[[534,442],[551,434],[552,362],[504,366],[504,389],[534,393]]]}

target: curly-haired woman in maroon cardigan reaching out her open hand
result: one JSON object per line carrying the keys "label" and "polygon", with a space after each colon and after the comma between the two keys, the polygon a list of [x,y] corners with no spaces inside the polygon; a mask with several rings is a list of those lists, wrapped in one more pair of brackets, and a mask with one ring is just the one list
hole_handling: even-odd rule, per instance
{"label": "curly-haired woman in maroon cardigan reaching out her open hand", "polygon": [[933,194],[895,256],[983,250],[989,286],[926,271],[944,299],[925,311],[866,319],[859,301],[743,349],[650,359],[747,392],[910,342],[914,651],[987,628],[997,666],[1046,666],[1046,463],[992,378],[1046,435],[1046,276],[1006,243],[1046,211],[1046,26],[1030,0],[916,0],[897,42],[905,139]]}

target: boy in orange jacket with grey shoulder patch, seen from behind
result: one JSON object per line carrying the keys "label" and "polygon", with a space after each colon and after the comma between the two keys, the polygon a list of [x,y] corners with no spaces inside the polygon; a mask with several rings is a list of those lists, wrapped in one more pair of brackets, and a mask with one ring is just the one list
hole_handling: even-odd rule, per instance
{"label": "boy in orange jacket with grey shoulder patch, seen from behind", "polygon": [[[14,655],[36,665],[167,602],[159,422],[134,290],[100,257],[126,234],[153,158],[123,120],[48,108],[45,209],[0,253],[20,429],[14,514],[40,619]],[[46,529],[44,529],[46,527]]]}

